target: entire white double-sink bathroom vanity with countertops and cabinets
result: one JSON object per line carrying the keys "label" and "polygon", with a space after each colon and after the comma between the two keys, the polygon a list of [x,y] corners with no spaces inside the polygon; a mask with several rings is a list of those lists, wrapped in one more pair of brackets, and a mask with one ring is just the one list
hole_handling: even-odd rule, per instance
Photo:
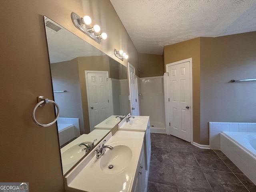
{"label": "entire white double-sink bathroom vanity with countertops and cabinets", "polygon": [[[148,127],[149,116],[124,118],[113,136],[110,132],[65,176],[66,192],[146,192],[151,154]],[[96,158],[102,148],[106,152]]]}

